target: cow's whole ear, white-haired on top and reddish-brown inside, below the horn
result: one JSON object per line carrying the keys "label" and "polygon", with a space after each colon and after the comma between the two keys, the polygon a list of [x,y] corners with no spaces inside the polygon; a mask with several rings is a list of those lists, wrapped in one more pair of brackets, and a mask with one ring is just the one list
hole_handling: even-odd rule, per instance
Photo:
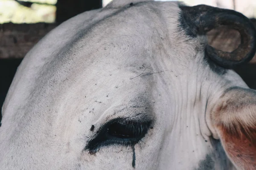
{"label": "cow's whole ear, white-haired on top and reddish-brown inside, below the horn", "polygon": [[256,169],[256,91],[231,88],[210,115],[230,161],[241,170]]}

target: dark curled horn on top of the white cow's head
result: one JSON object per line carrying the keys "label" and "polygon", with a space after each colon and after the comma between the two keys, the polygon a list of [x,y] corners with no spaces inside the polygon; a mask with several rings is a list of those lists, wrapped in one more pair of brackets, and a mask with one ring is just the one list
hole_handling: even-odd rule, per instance
{"label": "dark curled horn on top of the white cow's head", "polygon": [[218,26],[228,26],[239,31],[241,44],[232,52],[225,52],[206,47],[206,54],[210,59],[224,68],[234,68],[245,62],[249,62],[256,52],[256,30],[253,23],[243,14],[229,10],[215,8],[212,6],[180,6],[186,25],[189,26],[190,34],[206,34]]}

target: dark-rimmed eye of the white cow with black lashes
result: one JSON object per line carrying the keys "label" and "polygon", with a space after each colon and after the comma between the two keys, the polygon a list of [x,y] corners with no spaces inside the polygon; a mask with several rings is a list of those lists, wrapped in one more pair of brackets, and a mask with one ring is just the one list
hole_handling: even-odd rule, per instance
{"label": "dark-rimmed eye of the white cow with black lashes", "polygon": [[85,149],[96,152],[102,147],[114,144],[132,146],[140,142],[148,132],[149,127],[151,127],[151,121],[112,120],[99,128],[99,131],[89,140]]}

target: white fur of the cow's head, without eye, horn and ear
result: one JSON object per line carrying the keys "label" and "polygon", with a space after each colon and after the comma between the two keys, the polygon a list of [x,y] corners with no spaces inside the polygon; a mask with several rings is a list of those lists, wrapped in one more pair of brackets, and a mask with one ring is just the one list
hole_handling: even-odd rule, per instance
{"label": "white fur of the cow's head, without eye, horn and ear", "polygon": [[[130,147],[96,155],[84,147],[91,125],[95,133],[118,116],[140,119],[138,112],[155,123],[135,145],[137,170],[202,170],[207,155],[216,170],[231,169],[211,143],[217,135],[206,115],[227,88],[247,86],[232,71],[210,69],[205,37],[189,39],[179,13],[177,2],[116,0],[47,34],[19,66],[3,105],[0,169],[133,169]],[[155,74],[138,76],[147,73]]]}

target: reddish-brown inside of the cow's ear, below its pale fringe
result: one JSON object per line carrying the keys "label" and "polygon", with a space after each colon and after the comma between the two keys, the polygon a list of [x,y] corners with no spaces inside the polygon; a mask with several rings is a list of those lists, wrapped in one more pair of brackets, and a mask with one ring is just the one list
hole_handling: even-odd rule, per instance
{"label": "reddish-brown inside of the cow's ear, below its pale fringe", "polygon": [[221,143],[233,164],[242,170],[256,170],[256,127],[232,133],[219,125]]}

